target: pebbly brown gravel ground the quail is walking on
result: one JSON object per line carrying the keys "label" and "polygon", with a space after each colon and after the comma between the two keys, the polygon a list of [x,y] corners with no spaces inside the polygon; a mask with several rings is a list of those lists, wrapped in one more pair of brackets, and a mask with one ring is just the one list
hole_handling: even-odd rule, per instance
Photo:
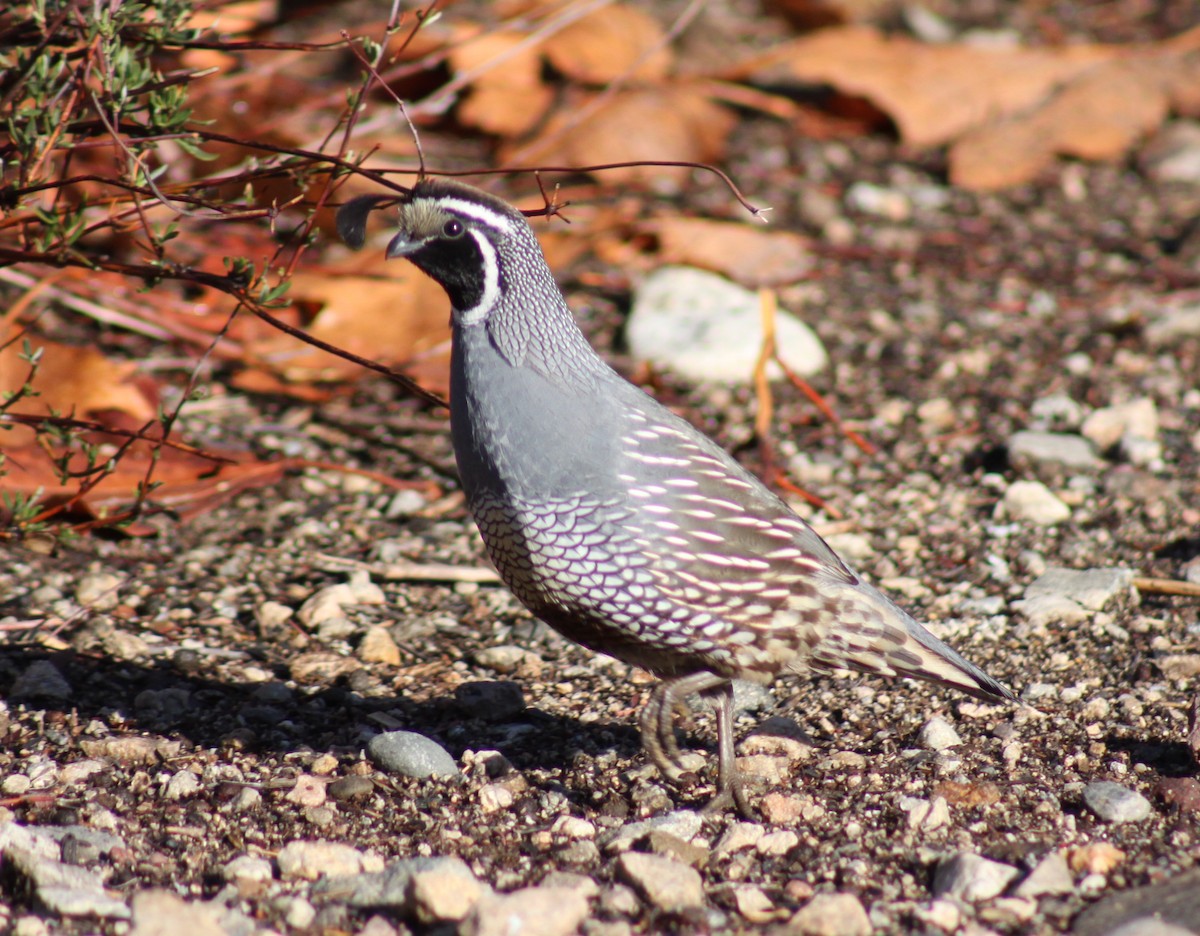
{"label": "pebbly brown gravel ground the quail is walking on", "polygon": [[[1028,704],[750,689],[761,820],[701,816],[707,713],[680,727],[708,768],[664,782],[652,679],[494,583],[439,414],[217,390],[192,438],[418,484],[311,472],[155,538],[2,547],[0,929],[1200,931],[1200,601],[1145,581],[1200,581],[1200,182],[1070,164],[974,197],[880,139],[750,121],[739,149],[818,244],[780,300],[881,450],[780,385],[778,456],[842,517],[797,509]],[[563,274],[631,372],[629,295]],[[655,392],[755,464],[750,392]]]}

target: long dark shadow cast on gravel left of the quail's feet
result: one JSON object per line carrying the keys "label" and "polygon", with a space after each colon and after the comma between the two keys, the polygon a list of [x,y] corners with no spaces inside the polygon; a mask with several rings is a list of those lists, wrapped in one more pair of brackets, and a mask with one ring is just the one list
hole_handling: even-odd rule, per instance
{"label": "long dark shadow cast on gravel left of the quail's feet", "polygon": [[[46,712],[44,724],[59,744],[70,743],[62,732],[95,737],[88,725],[98,719],[108,736],[127,727],[130,733],[160,734],[197,748],[233,746],[263,755],[306,749],[346,754],[365,749],[378,731],[402,728],[433,738],[456,758],[467,749],[498,750],[520,769],[562,768],[580,751],[616,749],[631,756],[641,746],[636,730],[623,722],[583,724],[535,708],[503,720],[470,718],[454,695],[415,702],[376,689],[366,697],[344,678],[293,689],[286,684],[286,667],[266,661],[257,665],[274,671],[275,679],[239,685],[200,676],[186,655],[182,660],[144,665],[70,650],[0,647],[0,698],[12,721],[22,708]],[[62,680],[56,683],[47,670],[50,678],[40,683],[40,661],[52,664]]]}

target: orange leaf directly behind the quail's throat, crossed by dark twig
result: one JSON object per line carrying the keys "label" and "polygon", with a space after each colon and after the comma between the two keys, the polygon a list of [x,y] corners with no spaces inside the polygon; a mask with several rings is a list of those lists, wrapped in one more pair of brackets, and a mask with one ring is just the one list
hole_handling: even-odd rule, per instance
{"label": "orange leaf directly behind the quail's throat, crossed by dark twig", "polygon": [[[403,365],[450,337],[450,305],[432,280],[407,264],[389,276],[305,271],[289,295],[318,311],[308,334],[380,364]],[[247,356],[294,383],[341,380],[361,368],[336,355],[275,332],[247,346]]]}

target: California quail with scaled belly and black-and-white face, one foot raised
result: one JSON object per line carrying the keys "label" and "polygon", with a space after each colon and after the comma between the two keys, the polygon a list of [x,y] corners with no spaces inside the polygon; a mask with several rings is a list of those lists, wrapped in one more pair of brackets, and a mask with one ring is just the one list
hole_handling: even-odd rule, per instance
{"label": "California quail with scaled belly and black-and-white face, one foot raised", "polygon": [[[343,234],[361,241],[365,215],[343,214]],[[419,181],[401,199],[388,257],[412,260],[450,296],[454,449],[492,562],[565,637],[661,677],[641,731],[667,778],[685,772],[674,707],[701,692],[716,712],[710,805],[749,812],[733,758],[734,678],[850,667],[1014,698],[608,367],[518,210],[462,182]]]}

